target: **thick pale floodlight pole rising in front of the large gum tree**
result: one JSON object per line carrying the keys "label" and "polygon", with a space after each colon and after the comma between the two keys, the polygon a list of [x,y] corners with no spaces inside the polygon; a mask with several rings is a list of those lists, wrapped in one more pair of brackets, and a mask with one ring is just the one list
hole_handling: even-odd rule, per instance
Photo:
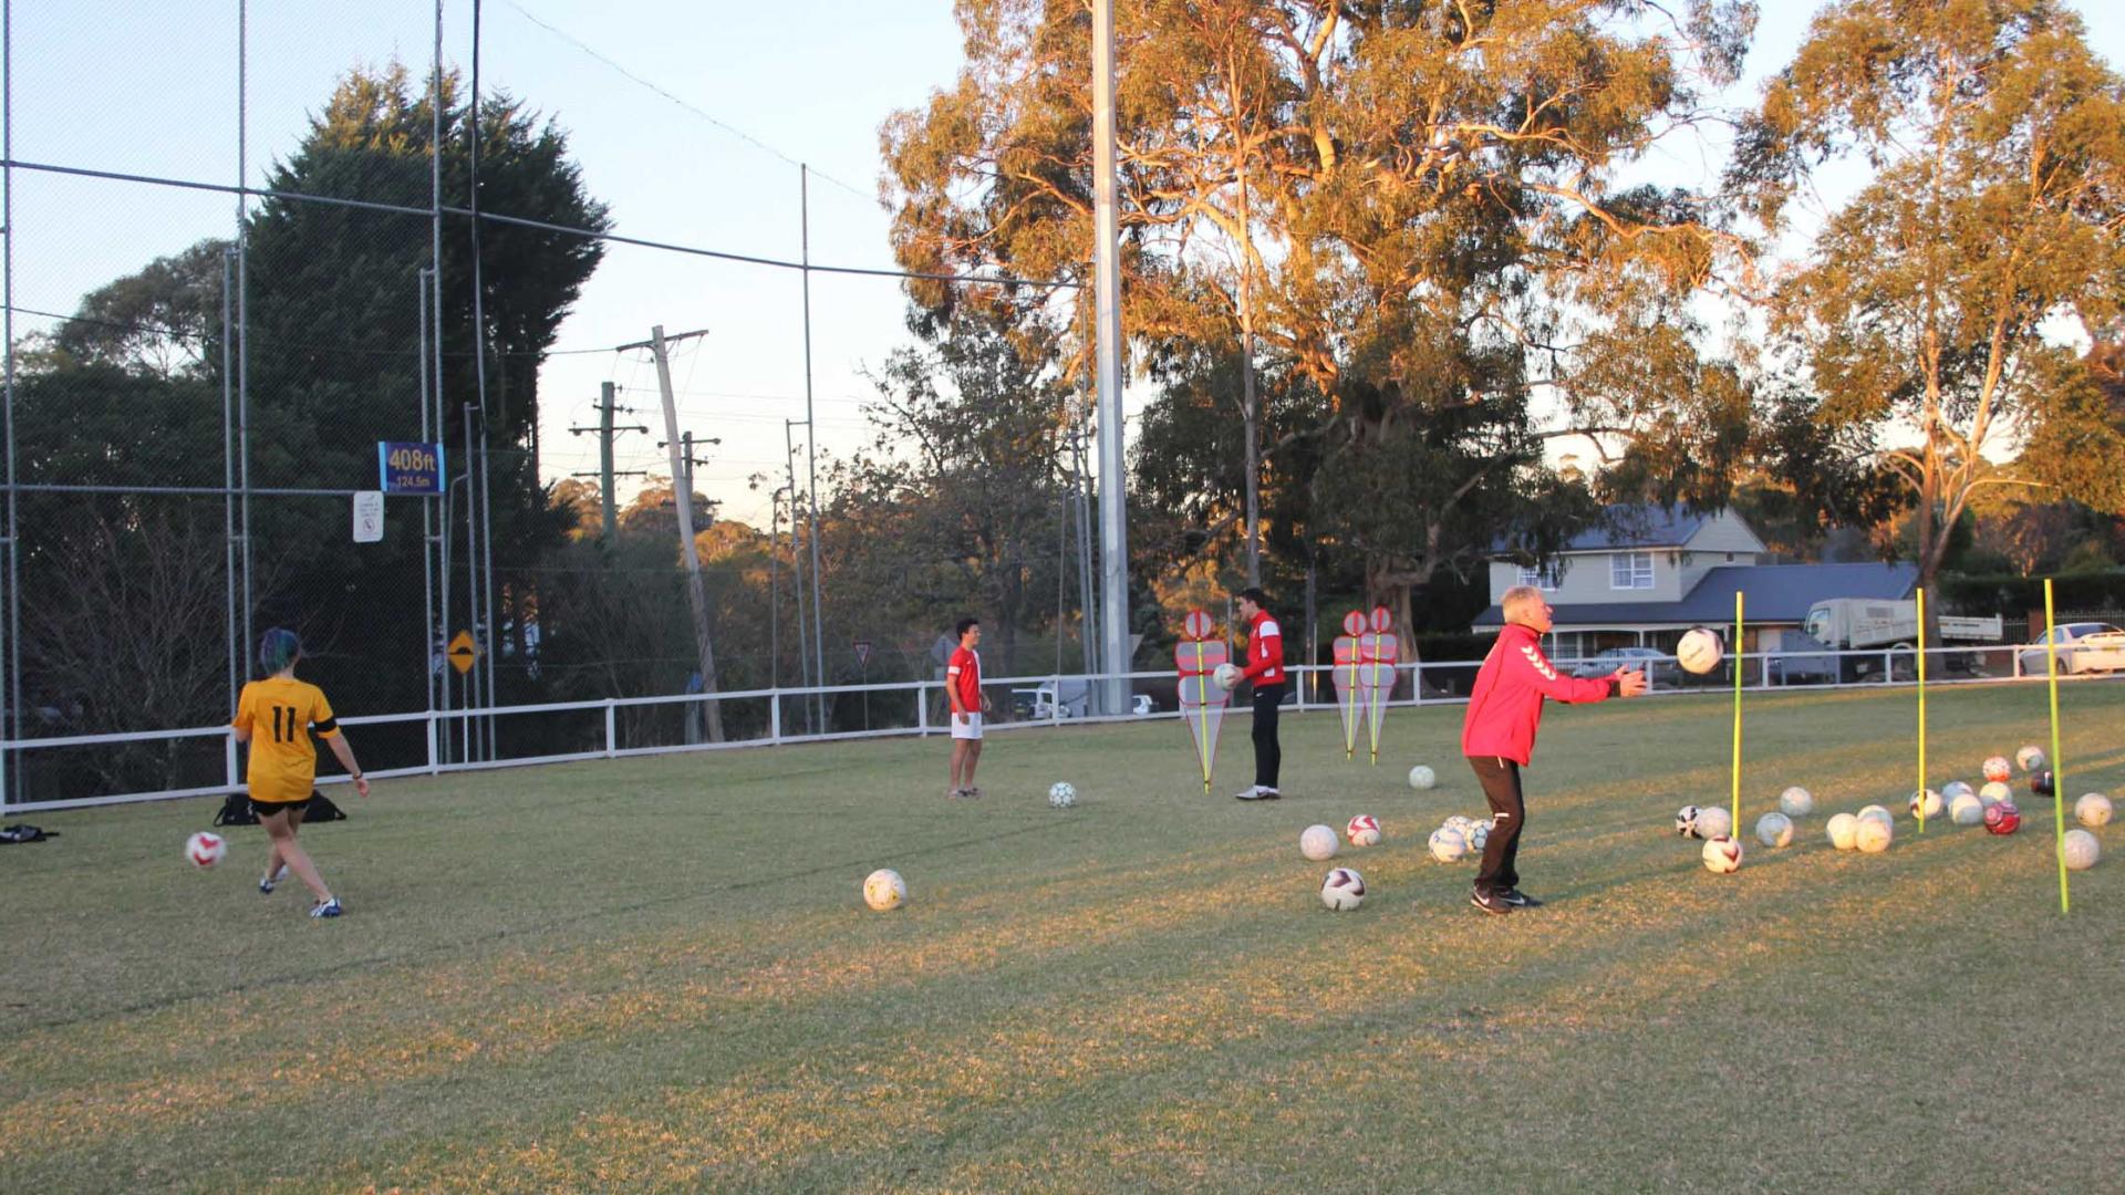
{"label": "thick pale floodlight pole rising in front of the large gum tree", "polygon": [[1128,706],[1128,519],[1122,461],[1122,268],[1114,147],[1114,0],[1092,0],[1092,289],[1099,355],[1099,555],[1105,712]]}

